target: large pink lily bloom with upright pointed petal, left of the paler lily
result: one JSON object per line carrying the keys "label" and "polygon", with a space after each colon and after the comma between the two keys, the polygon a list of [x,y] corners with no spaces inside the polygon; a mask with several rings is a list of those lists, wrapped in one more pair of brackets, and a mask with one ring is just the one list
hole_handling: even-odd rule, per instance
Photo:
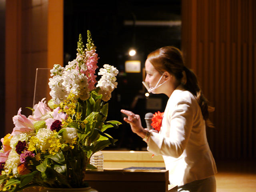
{"label": "large pink lily bloom with upright pointed petal, left of the paler lily", "polygon": [[11,135],[17,135],[20,133],[34,133],[35,128],[32,122],[21,114],[21,108],[18,110],[18,114],[12,118],[15,125]]}

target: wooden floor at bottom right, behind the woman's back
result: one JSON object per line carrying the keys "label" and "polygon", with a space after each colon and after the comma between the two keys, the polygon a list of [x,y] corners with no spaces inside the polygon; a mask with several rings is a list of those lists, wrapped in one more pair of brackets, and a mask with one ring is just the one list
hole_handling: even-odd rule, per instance
{"label": "wooden floor at bottom right, behind the woman's back", "polygon": [[217,161],[217,192],[256,192],[256,160]]}

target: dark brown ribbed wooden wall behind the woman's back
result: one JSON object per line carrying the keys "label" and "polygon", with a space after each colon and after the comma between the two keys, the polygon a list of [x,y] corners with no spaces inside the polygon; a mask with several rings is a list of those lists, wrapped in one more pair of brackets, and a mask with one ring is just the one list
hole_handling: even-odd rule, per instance
{"label": "dark brown ribbed wooden wall behind the woman's back", "polygon": [[216,109],[214,156],[256,158],[256,1],[182,0],[182,51]]}

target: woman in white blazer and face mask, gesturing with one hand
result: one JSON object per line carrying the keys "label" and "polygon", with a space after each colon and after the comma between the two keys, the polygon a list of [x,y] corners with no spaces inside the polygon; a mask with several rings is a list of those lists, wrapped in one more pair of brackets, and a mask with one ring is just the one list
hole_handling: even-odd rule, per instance
{"label": "woman in white blazer and face mask, gesturing with one hand", "polygon": [[212,126],[208,106],[196,75],[184,66],[180,50],[172,46],[148,55],[145,62],[148,92],[166,94],[169,99],[159,133],[144,129],[140,116],[121,110],[124,121],[145,142],[147,150],[162,155],[170,184],[179,192],[216,192],[216,164],[210,151],[206,126]]}

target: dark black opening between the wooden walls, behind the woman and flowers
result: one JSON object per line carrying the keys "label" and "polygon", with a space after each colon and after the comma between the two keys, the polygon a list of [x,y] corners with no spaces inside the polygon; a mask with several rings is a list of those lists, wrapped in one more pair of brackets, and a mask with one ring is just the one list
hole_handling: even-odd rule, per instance
{"label": "dark black opening between the wooden walls, behind the woman and flowers", "polygon": [[[87,41],[87,30],[92,33],[96,53],[99,56],[98,66],[104,64],[115,66],[119,70],[118,87],[112,92],[109,100],[107,120],[118,120],[123,124],[117,130],[107,132],[118,139],[115,146],[106,149],[146,150],[146,143],[132,133],[130,126],[122,119],[121,109],[132,110],[142,118],[144,116],[147,98],[142,85],[142,69],[148,53],[163,47],[181,44],[181,26],[138,26],[126,25],[125,21],[180,21],[180,0],[125,0],[99,1],[64,0],[64,65],[76,58],[76,48],[79,34],[84,43]],[[128,50],[134,47],[136,56],[128,56]],[[140,73],[125,73],[126,60],[140,60]],[[98,70],[96,70],[98,73]],[[100,77],[99,77],[100,78]],[[168,100],[165,95],[150,94],[149,98],[162,100],[161,112]],[[138,99],[138,100],[136,100]],[[137,102],[136,102],[137,101]]]}

